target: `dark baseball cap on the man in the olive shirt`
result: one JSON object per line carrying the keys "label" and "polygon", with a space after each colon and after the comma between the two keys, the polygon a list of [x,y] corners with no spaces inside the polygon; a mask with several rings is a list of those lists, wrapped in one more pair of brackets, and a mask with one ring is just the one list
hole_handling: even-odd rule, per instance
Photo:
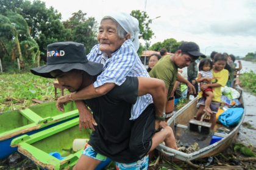
{"label": "dark baseball cap on the man in the olive shirt", "polygon": [[188,54],[192,56],[201,56],[202,58],[205,58],[206,56],[200,52],[199,46],[195,42],[183,42],[179,50],[182,50],[182,52],[187,52]]}

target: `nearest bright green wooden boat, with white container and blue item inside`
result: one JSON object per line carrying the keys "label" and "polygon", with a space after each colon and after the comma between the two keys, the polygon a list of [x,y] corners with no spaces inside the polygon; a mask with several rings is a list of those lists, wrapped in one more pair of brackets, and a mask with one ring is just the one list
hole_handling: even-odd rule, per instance
{"label": "nearest bright green wooden boat, with white container and blue item inside", "polygon": [[[36,134],[15,138],[12,146],[18,145],[18,151],[40,168],[72,169],[84,149],[74,152],[73,141],[76,138],[88,139],[90,134],[90,130],[79,131],[79,118],[74,118]],[[63,159],[52,156],[51,152],[58,152]],[[107,160],[103,164],[109,162],[110,160]]]}

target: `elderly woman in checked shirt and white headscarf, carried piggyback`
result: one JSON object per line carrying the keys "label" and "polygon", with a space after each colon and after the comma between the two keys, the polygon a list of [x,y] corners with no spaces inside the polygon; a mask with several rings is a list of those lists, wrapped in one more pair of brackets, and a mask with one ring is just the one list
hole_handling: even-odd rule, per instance
{"label": "elderly woman in checked shirt and white headscarf, carried piggyback", "polygon": [[[99,44],[88,54],[88,60],[104,64],[103,72],[91,86],[72,95],[79,109],[82,127],[94,129],[93,124],[96,123],[90,110],[77,100],[104,95],[114,86],[123,84],[127,76],[149,77],[137,54],[140,47],[139,32],[138,20],[128,13],[113,13],[102,18],[98,31]],[[69,100],[68,97],[65,95],[57,100],[60,110],[63,103]],[[132,107],[130,120],[138,118],[152,102],[149,94],[139,97]],[[158,107],[157,103],[155,107]]]}

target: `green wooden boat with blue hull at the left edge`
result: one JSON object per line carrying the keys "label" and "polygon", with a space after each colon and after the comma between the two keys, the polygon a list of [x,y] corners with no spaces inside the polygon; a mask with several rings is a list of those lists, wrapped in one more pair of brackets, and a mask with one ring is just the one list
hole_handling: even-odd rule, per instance
{"label": "green wooden boat with blue hull at the left edge", "polygon": [[8,157],[17,148],[10,147],[13,138],[23,134],[34,134],[71,118],[78,117],[75,103],[68,103],[65,112],[59,112],[55,101],[38,104],[24,110],[13,110],[0,114],[0,159]]}

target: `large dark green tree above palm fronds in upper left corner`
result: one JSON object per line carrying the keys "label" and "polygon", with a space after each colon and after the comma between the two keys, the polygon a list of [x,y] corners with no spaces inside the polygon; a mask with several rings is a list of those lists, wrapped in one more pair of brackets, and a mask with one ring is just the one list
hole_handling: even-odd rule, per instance
{"label": "large dark green tree above palm fronds in upper left corner", "polygon": [[5,15],[9,10],[20,14],[29,26],[29,33],[37,41],[41,56],[45,57],[46,46],[52,42],[67,41],[70,32],[60,21],[62,15],[53,7],[46,8],[44,2],[27,0],[0,0],[0,12]]}

